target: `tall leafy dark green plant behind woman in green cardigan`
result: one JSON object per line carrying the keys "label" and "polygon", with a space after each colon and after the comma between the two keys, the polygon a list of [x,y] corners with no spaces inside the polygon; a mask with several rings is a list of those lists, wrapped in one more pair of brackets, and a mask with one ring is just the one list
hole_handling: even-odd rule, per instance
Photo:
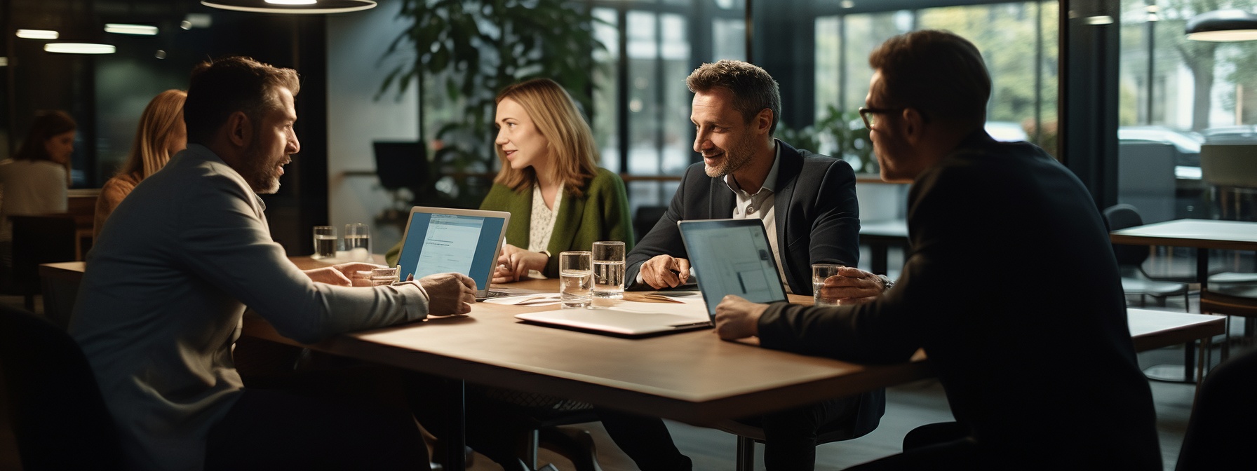
{"label": "tall leafy dark green plant behind woman in green cardigan", "polygon": [[[386,75],[377,98],[390,89],[402,94],[416,79],[424,84],[430,78],[461,111],[450,113],[436,132],[441,144],[432,153],[432,168],[446,172],[494,168],[494,100],[509,84],[551,78],[583,109],[592,109],[591,70],[596,67],[592,53],[606,46],[593,35],[596,19],[586,3],[402,0],[398,16],[410,26],[388,44],[385,55],[416,57]],[[464,188],[466,182],[455,185]]]}

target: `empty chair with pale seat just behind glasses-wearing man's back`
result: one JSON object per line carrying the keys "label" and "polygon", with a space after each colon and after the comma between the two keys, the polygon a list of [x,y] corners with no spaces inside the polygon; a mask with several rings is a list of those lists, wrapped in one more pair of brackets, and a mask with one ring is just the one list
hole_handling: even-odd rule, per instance
{"label": "empty chair with pale seat just behind glasses-wearing man's back", "polygon": [[[1131,205],[1114,205],[1104,210],[1105,222],[1110,231],[1144,225],[1139,210]],[[1156,304],[1165,305],[1165,298],[1183,295],[1183,309],[1188,309],[1188,284],[1179,281],[1154,280],[1144,271],[1144,260],[1148,260],[1149,247],[1140,245],[1114,244],[1112,254],[1117,257],[1117,268],[1121,270],[1121,290],[1128,295],[1139,295],[1143,305],[1144,296],[1153,296]]]}

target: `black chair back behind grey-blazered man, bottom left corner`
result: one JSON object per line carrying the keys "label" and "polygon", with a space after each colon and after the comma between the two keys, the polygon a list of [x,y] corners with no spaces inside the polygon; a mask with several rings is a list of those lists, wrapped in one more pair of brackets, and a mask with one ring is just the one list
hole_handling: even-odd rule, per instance
{"label": "black chair back behind grey-blazered man, bottom left corner", "polygon": [[0,363],[24,470],[123,468],[96,377],[64,330],[0,305]]}

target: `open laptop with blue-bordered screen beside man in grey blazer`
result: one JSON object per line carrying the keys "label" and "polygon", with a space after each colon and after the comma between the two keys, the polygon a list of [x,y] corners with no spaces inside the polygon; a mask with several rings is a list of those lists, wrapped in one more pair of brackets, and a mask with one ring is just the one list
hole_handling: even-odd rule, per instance
{"label": "open laptop with blue-bordered screen beside man in grey blazer", "polygon": [[517,294],[489,291],[509,222],[510,214],[505,211],[415,206],[401,239],[398,278],[415,275],[417,280],[453,271],[475,280],[478,300]]}

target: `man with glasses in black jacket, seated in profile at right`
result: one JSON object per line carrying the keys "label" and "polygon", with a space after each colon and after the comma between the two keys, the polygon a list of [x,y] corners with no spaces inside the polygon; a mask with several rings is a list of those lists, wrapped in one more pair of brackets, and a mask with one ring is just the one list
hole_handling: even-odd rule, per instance
{"label": "man with glasses in black jacket, seated in profile at right", "polygon": [[[924,349],[955,422],[918,428],[904,453],[860,470],[1160,470],[1151,393],[1087,188],[1038,147],[983,131],[991,77],[968,40],[909,33],[869,63],[860,113],[882,178],[914,180],[903,275],[890,289],[856,269],[826,280],[851,305],[727,296],[716,333],[861,363]],[[1076,368],[1046,374],[1062,364]]]}

